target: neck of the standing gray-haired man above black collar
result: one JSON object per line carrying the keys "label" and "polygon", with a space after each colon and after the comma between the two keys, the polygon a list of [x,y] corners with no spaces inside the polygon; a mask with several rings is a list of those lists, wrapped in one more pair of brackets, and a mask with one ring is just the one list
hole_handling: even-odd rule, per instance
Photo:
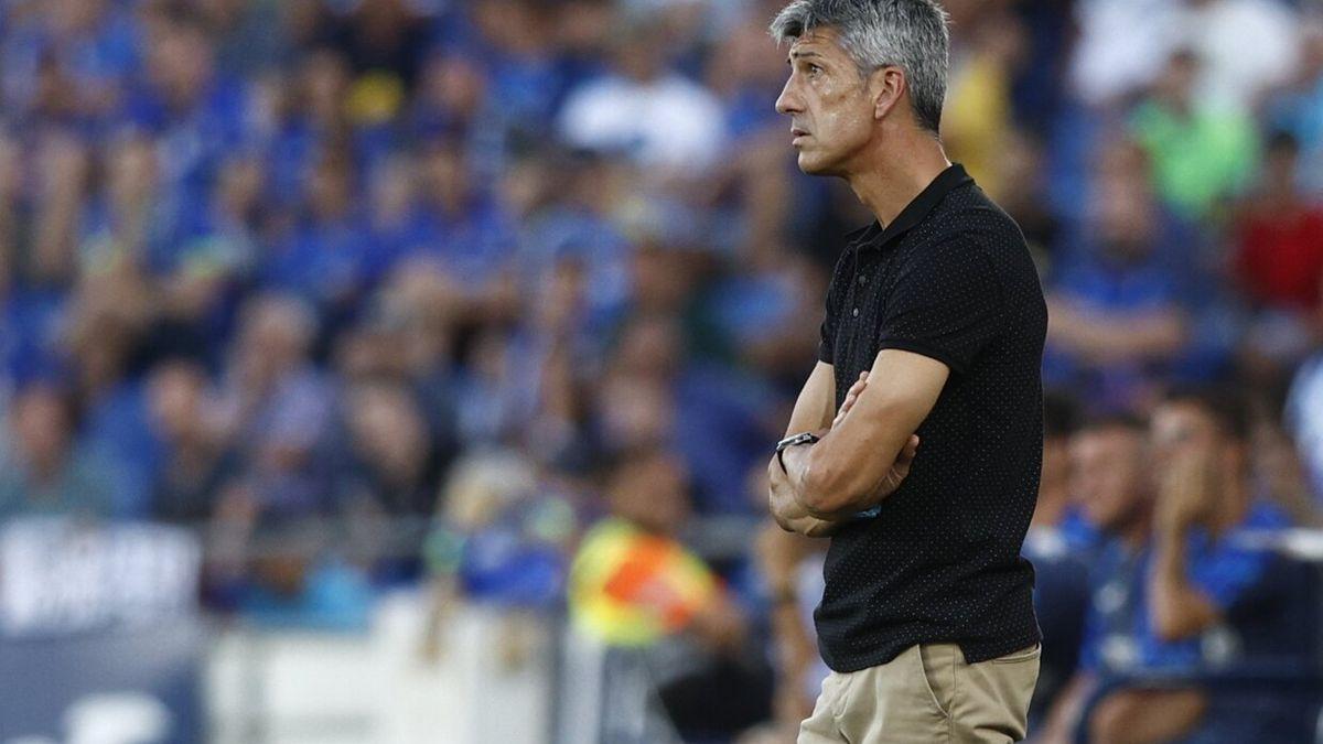
{"label": "neck of the standing gray-haired man above black collar", "polygon": [[897,134],[885,150],[867,158],[864,169],[845,176],[855,196],[884,228],[951,165],[937,138],[918,130]]}

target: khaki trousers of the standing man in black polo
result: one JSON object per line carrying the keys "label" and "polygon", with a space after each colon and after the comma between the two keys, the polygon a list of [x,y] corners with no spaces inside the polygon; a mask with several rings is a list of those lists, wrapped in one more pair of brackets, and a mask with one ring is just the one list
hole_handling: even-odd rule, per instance
{"label": "khaki trousers of the standing man in black polo", "polygon": [[1041,653],[1033,645],[971,665],[955,643],[923,643],[881,666],[833,671],[799,744],[1020,741]]}

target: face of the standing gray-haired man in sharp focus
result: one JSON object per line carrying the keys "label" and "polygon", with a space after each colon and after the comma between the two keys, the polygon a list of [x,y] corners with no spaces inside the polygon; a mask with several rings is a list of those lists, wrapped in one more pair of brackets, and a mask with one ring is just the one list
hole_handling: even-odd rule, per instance
{"label": "face of the standing gray-haired man in sharp focus", "polygon": [[873,136],[875,105],[868,78],[837,44],[831,28],[804,32],[790,46],[790,79],[777,113],[790,116],[799,169],[844,175]]}

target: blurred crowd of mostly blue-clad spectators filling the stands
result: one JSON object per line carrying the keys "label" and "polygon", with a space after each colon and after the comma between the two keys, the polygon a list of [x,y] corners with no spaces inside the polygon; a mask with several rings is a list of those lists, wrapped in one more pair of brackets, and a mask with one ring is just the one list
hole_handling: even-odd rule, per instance
{"label": "blurred crowd of mostly blue-clad spectators filling the stands", "polygon": [[[614,643],[696,642],[663,695],[683,729],[789,725],[815,655],[769,586],[807,602],[820,545],[691,540],[762,524],[872,218],[795,168],[781,5],[0,1],[0,519],[188,526],[206,605],[270,622],[361,625],[398,582],[435,586],[439,625],[458,597],[569,597]],[[1167,560],[1207,594],[1062,621],[1080,702],[1077,663],[1203,658],[1188,639],[1266,571],[1228,535],[1315,524],[1323,9],[945,5],[943,139],[1029,240],[1076,412],[1049,416],[1027,552],[1110,551],[1077,563],[1130,589]],[[1213,385],[1244,410],[1171,392]],[[1193,422],[1163,418],[1183,401]],[[1187,537],[1212,579],[1176,581]],[[713,719],[732,679],[747,699]]]}

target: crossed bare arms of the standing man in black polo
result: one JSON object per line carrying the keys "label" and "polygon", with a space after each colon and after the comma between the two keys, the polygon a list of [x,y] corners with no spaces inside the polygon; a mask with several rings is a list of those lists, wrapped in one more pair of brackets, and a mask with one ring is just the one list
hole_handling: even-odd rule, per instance
{"label": "crossed bare arms of the standing man in black polo", "polygon": [[909,474],[918,429],[950,376],[946,364],[882,349],[849,389],[840,410],[831,364],[808,376],[787,434],[815,432],[815,445],[789,447],[767,463],[769,504],[783,530],[811,537],[835,532],[855,514],[882,502]]}

